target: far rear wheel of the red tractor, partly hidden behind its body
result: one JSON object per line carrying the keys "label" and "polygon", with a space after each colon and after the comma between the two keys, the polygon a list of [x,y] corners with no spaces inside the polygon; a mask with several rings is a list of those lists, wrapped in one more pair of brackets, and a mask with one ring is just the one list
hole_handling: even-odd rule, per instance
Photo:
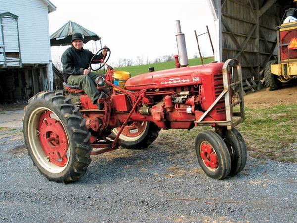
{"label": "far rear wheel of the red tractor, partly hidden behind its body", "polygon": [[[112,135],[117,135],[119,128],[112,130]],[[122,147],[127,149],[144,149],[148,147],[159,136],[160,128],[153,122],[149,121],[135,121],[127,125],[120,140]]]}

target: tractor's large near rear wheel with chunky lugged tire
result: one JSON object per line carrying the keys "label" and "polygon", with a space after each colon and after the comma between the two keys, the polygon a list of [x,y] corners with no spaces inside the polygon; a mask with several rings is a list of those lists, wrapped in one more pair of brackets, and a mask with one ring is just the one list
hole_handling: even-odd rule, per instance
{"label": "tractor's large near rear wheel with chunky lugged tire", "polygon": [[87,171],[92,147],[85,119],[61,92],[41,92],[29,100],[23,134],[33,164],[49,180],[69,183]]}

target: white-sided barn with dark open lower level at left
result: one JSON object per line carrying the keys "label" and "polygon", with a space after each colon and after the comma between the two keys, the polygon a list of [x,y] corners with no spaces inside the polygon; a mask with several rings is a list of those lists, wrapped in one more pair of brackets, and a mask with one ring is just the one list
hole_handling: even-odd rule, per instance
{"label": "white-sided barn with dark open lower level at left", "polygon": [[0,103],[53,87],[49,0],[0,0]]}

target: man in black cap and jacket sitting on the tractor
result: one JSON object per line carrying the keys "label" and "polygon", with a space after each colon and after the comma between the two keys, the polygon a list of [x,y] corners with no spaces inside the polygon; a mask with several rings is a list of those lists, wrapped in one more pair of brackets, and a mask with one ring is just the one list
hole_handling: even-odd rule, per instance
{"label": "man in black cap and jacket sitting on the tractor", "polygon": [[[99,74],[88,69],[94,54],[83,48],[83,41],[84,38],[81,33],[74,33],[71,38],[72,46],[62,55],[61,62],[63,64],[64,81],[70,85],[81,86],[90,97],[92,103],[97,104],[99,109],[102,109],[99,99],[106,97],[106,94],[104,92],[99,93],[96,88],[96,79],[99,77]],[[100,61],[106,53],[107,48],[104,46],[102,52],[94,58]]]}

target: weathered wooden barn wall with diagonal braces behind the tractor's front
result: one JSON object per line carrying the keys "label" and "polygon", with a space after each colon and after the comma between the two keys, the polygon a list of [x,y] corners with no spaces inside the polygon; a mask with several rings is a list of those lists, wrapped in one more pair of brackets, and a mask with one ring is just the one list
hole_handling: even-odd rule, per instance
{"label": "weathered wooden barn wall with diagonal braces behind the tractor's front", "polygon": [[238,58],[244,79],[251,76],[260,79],[261,68],[273,56],[271,47],[276,43],[273,38],[276,37],[280,8],[274,4],[269,9],[270,13],[266,11],[260,16],[259,9],[263,3],[264,0],[226,0],[221,5],[222,59]]}

